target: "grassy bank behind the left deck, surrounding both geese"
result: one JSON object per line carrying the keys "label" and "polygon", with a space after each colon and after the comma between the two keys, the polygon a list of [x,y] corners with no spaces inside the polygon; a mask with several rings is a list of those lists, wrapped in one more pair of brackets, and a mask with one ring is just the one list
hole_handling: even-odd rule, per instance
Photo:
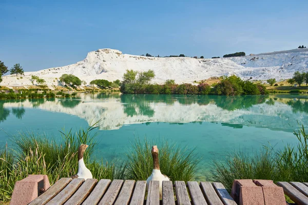
{"label": "grassy bank behind the left deck, surrounding both geese", "polygon": [[[195,150],[181,148],[165,140],[136,140],[132,142],[131,150],[116,161],[94,158],[92,155],[97,145],[97,123],[76,132],[61,131],[62,140],[32,132],[14,136],[12,148],[0,148],[0,203],[9,201],[15,182],[29,174],[46,174],[51,185],[62,177],[76,174],[80,144],[89,145],[84,160],[96,179],[145,180],[152,171],[151,146],[158,145],[164,174],[171,180],[194,180],[200,159]],[[182,171],[178,172],[179,170]]]}

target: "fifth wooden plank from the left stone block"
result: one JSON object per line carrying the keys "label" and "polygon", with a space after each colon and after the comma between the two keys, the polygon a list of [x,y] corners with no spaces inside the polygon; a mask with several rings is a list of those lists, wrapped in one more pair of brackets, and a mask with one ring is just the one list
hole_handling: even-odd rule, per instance
{"label": "fifth wooden plank from the left stone block", "polygon": [[108,188],[106,194],[103,196],[102,200],[100,201],[100,205],[105,205],[105,204],[113,204],[115,198],[117,198],[121,187],[123,184],[122,179],[114,179],[111,182],[110,187]]}

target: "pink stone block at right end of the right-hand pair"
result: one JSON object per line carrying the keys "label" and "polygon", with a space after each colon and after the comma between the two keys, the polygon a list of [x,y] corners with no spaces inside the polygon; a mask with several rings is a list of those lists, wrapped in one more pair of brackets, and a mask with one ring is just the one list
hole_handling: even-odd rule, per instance
{"label": "pink stone block at right end of the right-hand pair", "polygon": [[254,182],[262,187],[265,205],[286,204],[283,188],[275,185],[272,180],[255,179]]}

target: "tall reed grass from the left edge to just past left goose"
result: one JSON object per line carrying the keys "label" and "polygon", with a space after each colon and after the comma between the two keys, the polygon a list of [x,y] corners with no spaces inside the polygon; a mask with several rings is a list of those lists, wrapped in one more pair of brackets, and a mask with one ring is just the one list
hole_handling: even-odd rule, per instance
{"label": "tall reed grass from the left edge to just past left goose", "polygon": [[62,140],[56,141],[45,134],[20,133],[14,137],[14,149],[7,146],[0,150],[0,201],[10,199],[15,182],[29,174],[47,174],[51,185],[61,177],[70,177],[78,171],[78,148],[89,145],[84,154],[87,167],[93,178],[124,178],[121,167],[103,159],[91,160],[95,149],[92,133],[98,122],[79,131],[62,131]]}

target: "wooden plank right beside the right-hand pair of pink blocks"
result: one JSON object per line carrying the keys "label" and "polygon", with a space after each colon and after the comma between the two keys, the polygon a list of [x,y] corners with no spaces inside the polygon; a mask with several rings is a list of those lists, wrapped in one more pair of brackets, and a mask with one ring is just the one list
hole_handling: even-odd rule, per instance
{"label": "wooden plank right beside the right-hand pair of pink blocks", "polygon": [[277,182],[279,186],[283,188],[284,193],[291,198],[292,201],[298,204],[308,205],[308,198],[294,188],[290,183],[285,181]]}

